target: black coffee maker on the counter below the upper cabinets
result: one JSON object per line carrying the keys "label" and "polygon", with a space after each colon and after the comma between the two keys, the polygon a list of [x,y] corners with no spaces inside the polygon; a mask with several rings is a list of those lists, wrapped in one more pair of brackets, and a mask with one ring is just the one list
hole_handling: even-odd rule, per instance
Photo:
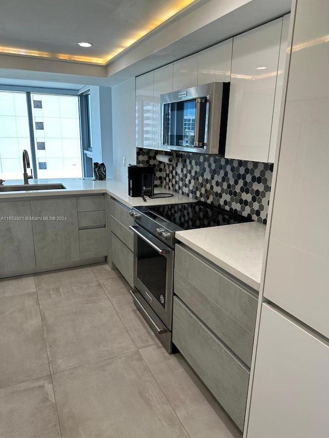
{"label": "black coffee maker on the counter below the upper cabinets", "polygon": [[[145,188],[144,188],[145,187]],[[154,168],[152,166],[128,166],[128,195],[133,197],[154,195]]]}

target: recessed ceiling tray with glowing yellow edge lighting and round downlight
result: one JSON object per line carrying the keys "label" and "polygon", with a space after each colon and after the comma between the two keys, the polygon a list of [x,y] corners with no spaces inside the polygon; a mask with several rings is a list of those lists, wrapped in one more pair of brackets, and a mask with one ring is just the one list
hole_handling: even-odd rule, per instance
{"label": "recessed ceiling tray with glowing yellow edge lighting and round downlight", "polygon": [[[174,13],[199,0],[3,0],[0,53],[106,64]],[[77,42],[92,42],[82,48]]]}

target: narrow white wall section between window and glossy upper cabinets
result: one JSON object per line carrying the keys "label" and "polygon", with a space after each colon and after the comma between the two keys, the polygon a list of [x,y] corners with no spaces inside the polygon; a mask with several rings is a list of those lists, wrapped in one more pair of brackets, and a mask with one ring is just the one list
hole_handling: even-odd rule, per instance
{"label": "narrow white wall section between window and glossy upper cabinets", "polygon": [[135,78],[112,87],[112,126],[114,178],[126,182],[127,165],[136,164]]}

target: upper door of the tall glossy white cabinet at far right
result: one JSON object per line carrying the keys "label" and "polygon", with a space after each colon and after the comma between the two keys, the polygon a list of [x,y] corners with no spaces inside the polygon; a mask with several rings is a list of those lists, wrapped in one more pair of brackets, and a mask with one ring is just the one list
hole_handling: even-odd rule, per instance
{"label": "upper door of the tall glossy white cabinet at far right", "polygon": [[[302,2],[298,10],[294,47],[323,37],[329,4]],[[264,283],[265,298],[327,338],[328,50],[326,42],[291,53]]]}

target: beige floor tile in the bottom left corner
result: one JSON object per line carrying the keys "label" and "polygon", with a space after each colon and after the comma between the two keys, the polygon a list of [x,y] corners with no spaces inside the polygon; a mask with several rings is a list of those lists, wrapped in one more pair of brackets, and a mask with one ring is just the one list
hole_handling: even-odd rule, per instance
{"label": "beige floor tile in the bottom left corner", "polygon": [[51,378],[0,390],[1,438],[61,438]]}

